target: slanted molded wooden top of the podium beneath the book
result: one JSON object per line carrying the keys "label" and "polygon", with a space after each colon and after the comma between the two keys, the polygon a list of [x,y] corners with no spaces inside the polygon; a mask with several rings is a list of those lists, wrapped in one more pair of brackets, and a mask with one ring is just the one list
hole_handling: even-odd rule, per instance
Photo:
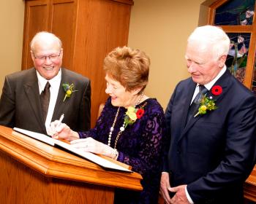
{"label": "slanted molded wooden top of the podium beneath the book", "polygon": [[143,189],[139,173],[105,170],[69,152],[13,132],[0,125],[0,150],[45,176],[123,189]]}

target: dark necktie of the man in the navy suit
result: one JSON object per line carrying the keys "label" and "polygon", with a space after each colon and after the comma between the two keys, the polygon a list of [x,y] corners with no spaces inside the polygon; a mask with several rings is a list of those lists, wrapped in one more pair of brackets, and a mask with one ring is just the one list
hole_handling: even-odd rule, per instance
{"label": "dark necktie of the man in the navy suit", "polygon": [[189,112],[187,114],[187,122],[189,121],[189,119],[194,117],[195,114],[197,114],[197,111],[200,107],[200,101],[202,100],[203,95],[205,95],[207,91],[208,90],[206,89],[206,87],[204,87],[203,85],[199,85],[199,93],[197,93],[194,101],[191,103],[189,107]]}

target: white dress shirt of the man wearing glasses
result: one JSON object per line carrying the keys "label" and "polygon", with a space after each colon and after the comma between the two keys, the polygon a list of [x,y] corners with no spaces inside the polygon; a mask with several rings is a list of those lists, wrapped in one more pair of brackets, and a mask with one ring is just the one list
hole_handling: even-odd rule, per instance
{"label": "white dress shirt of the man wearing glasses", "polygon": [[49,81],[43,78],[37,71],[37,79],[38,79],[39,94],[41,94],[42,91],[45,89],[46,83],[47,82],[50,83],[50,103],[48,107],[47,117],[45,119],[45,127],[47,130],[48,127],[50,127],[50,122],[51,122],[51,119],[53,118],[53,111],[54,111],[58,93],[59,93],[59,86],[61,84],[61,68],[59,69],[59,73]]}

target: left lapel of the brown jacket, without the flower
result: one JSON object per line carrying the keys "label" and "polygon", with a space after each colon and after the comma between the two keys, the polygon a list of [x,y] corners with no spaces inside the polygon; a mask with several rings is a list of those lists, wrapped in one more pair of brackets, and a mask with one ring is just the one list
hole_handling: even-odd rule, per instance
{"label": "left lapel of the brown jacket, without the flower", "polygon": [[37,122],[42,127],[42,130],[45,130],[45,125],[42,120],[42,106],[39,98],[39,87],[37,82],[37,74],[35,69],[32,69],[28,74],[28,79],[26,84],[23,85],[23,89],[26,93],[27,98],[29,99],[29,104],[34,111],[35,118]]}

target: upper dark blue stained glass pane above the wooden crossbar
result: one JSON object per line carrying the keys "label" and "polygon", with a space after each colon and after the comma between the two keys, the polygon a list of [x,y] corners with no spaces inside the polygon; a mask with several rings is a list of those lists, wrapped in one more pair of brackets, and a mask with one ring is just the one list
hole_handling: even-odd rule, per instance
{"label": "upper dark blue stained glass pane above the wooden crossbar", "polygon": [[216,9],[215,26],[252,25],[255,0],[231,0]]}

